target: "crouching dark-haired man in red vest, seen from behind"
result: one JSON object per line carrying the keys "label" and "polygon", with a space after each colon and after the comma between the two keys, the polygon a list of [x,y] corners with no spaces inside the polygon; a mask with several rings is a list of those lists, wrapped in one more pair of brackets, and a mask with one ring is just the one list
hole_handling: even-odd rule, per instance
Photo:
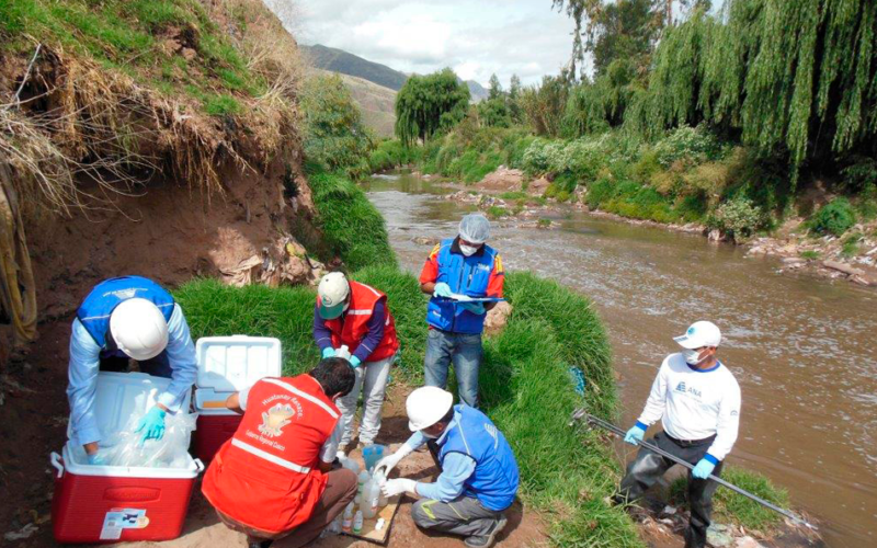
{"label": "crouching dark-haired man in red vest, seen from behind", "polygon": [[226,401],[243,419],[207,468],[202,491],[250,548],[284,537],[284,547],[304,546],[356,495],[356,475],[332,469],[341,438],[335,400],[354,380],[346,359],[330,357],[308,374],[264,378]]}

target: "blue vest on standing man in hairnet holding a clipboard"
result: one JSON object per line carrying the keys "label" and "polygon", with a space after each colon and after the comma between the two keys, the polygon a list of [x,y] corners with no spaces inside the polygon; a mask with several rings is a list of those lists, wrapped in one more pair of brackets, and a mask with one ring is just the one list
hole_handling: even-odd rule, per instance
{"label": "blue vest on standing man in hairnet holding a clipboard", "polygon": [[[455,239],[443,240],[437,254],[438,275],[435,283],[445,283],[452,293],[469,297],[487,297],[490,274],[496,267],[497,251],[483,246],[477,253],[466,256],[454,244]],[[476,315],[453,300],[432,297],[426,309],[426,322],[435,329],[452,333],[481,333],[485,317]]]}

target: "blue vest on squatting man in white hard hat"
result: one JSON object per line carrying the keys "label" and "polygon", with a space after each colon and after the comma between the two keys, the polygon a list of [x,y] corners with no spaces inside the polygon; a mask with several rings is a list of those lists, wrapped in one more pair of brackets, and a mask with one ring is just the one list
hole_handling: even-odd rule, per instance
{"label": "blue vest on squatting man in white hard hat", "polygon": [[475,471],[466,480],[464,494],[476,496],[488,510],[503,511],[517,493],[517,463],[502,432],[488,416],[467,406],[454,406],[459,413],[456,427],[441,444],[438,460],[462,453],[475,460]]}

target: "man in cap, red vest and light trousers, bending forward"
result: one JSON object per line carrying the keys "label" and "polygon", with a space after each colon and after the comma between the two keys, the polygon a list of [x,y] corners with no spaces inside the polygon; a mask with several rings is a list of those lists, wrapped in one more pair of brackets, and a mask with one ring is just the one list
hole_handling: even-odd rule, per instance
{"label": "man in cap, red vest and light trousers, bending forward", "polygon": [[[399,350],[396,322],[387,308],[387,296],[374,287],[349,282],[341,272],[322,277],[314,308],[314,340],[322,357],[346,357],[356,372],[353,390],[338,400],[341,410],[343,452],[353,437],[353,415],[363,391],[360,444],[374,443],[380,430],[380,410],[390,365]],[[349,354],[342,355],[342,346]]]}

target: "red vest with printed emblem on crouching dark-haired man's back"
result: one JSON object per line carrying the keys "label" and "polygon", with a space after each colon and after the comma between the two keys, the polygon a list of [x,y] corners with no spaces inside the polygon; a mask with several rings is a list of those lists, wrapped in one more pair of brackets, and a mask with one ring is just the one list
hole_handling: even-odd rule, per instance
{"label": "red vest with printed emblem on crouching dark-haired man's back", "polygon": [[204,496],[259,530],[283,533],[307,522],[326,490],[320,450],[340,415],[310,375],[259,380],[238,431],[204,475]]}

